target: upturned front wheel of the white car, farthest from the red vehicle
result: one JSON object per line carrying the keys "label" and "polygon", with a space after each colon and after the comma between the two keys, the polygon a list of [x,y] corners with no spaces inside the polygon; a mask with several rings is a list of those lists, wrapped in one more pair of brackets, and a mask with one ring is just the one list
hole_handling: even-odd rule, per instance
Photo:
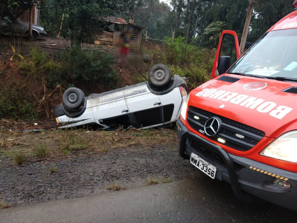
{"label": "upturned front wheel of the white car, farthest from the red vehicle", "polygon": [[83,105],[85,94],[77,87],[68,88],[63,94],[63,103],[70,109],[76,109]]}

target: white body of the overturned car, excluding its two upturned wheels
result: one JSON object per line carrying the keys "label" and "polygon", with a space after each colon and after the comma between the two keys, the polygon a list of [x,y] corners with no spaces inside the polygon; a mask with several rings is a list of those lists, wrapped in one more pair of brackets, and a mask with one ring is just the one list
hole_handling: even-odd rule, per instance
{"label": "white body of the overturned car, excluding its two upturned wheels", "polygon": [[[64,104],[55,108],[58,123],[64,123],[59,128],[97,123],[109,128],[113,121],[125,122],[136,128],[151,128],[174,122],[179,118],[182,102],[186,96],[181,96],[179,87],[187,87],[180,76],[172,79],[168,89],[155,91],[148,82],[127,86],[124,88],[92,94],[85,98],[83,107],[76,113],[68,113]],[[185,90],[184,90],[185,92]],[[186,94],[186,93],[185,93]],[[70,112],[70,110],[69,110]],[[171,115],[171,116],[170,116]]]}

